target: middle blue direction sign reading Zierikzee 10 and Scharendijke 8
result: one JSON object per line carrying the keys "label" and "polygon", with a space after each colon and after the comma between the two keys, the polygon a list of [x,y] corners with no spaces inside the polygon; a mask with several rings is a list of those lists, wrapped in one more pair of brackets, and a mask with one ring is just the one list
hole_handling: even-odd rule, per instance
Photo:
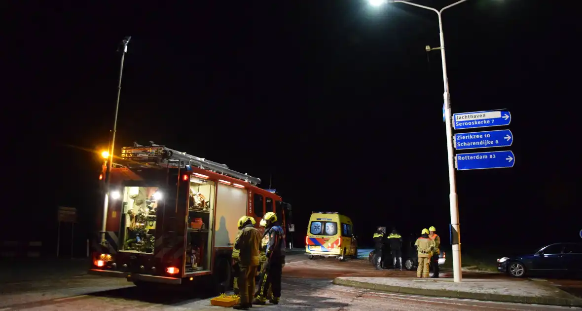
{"label": "middle blue direction sign reading Zierikzee 10 and Scharendijke 8", "polygon": [[456,133],[455,149],[478,149],[507,147],[513,143],[510,130],[489,130],[487,132]]}

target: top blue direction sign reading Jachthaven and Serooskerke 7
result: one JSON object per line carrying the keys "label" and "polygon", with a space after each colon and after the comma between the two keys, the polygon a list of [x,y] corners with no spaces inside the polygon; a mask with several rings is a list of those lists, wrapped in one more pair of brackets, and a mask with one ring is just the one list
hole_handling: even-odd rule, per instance
{"label": "top blue direction sign reading Jachthaven and Serooskerke 7", "polygon": [[511,123],[511,114],[506,110],[463,112],[453,114],[453,128],[474,129],[503,126]]}

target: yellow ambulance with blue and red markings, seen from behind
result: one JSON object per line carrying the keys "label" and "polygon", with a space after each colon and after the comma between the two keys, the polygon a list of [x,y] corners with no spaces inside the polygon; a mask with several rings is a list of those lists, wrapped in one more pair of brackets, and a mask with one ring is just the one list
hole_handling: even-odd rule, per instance
{"label": "yellow ambulance with blue and red markings, seen from behind", "polygon": [[336,212],[313,212],[305,237],[305,252],[309,259],[348,256],[357,258],[358,246],[353,234],[352,220]]}

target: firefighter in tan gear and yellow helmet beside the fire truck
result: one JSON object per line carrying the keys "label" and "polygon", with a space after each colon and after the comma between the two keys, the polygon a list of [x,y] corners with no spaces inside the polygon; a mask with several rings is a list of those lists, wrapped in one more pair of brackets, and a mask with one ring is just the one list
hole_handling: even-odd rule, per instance
{"label": "firefighter in tan gear and yellow helmet beside the fire truck", "polygon": [[[242,225],[241,225],[242,223]],[[255,288],[255,275],[259,264],[259,243],[261,232],[254,227],[251,217],[243,216],[239,219],[240,236],[235,242],[235,249],[239,251],[239,274],[237,287],[239,288],[240,303],[232,308],[248,310],[252,307]]]}

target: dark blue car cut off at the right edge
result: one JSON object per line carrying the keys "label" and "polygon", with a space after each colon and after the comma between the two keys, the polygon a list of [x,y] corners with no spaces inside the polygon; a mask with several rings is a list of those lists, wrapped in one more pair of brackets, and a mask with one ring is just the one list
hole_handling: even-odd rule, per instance
{"label": "dark blue car cut off at the right edge", "polygon": [[536,273],[578,274],[582,272],[582,244],[550,244],[530,255],[503,257],[497,264],[499,272],[513,277]]}

